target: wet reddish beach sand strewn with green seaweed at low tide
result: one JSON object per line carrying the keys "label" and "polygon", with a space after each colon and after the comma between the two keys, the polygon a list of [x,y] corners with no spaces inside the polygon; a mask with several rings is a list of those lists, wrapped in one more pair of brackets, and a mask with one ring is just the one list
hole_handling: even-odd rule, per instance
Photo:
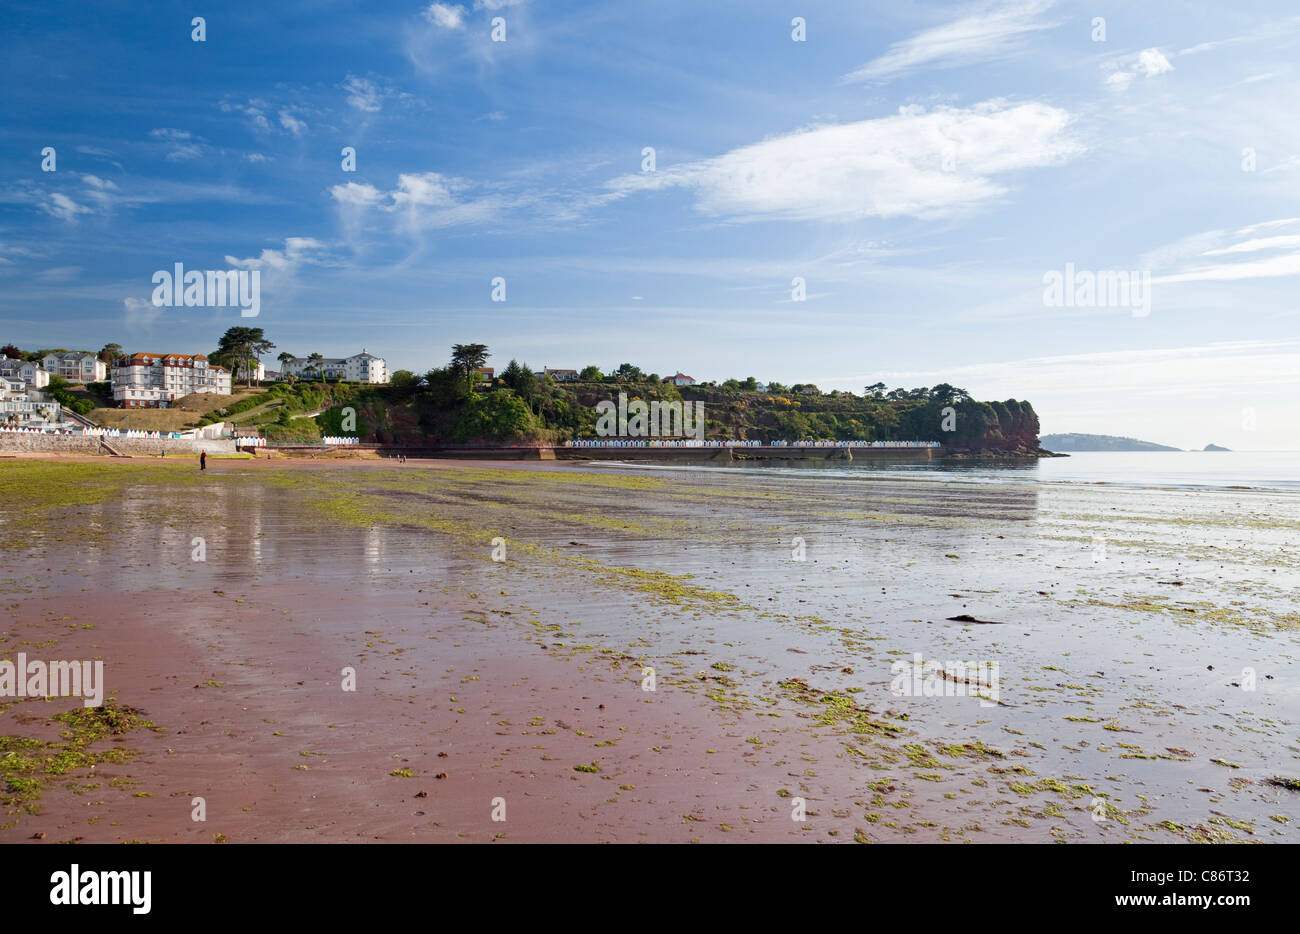
{"label": "wet reddish beach sand strewn with green seaweed at low tide", "polygon": [[[208,466],[0,462],[0,656],[103,658],[157,725],[0,840],[1295,839],[1300,497]],[[894,696],[916,652],[1001,704]]]}

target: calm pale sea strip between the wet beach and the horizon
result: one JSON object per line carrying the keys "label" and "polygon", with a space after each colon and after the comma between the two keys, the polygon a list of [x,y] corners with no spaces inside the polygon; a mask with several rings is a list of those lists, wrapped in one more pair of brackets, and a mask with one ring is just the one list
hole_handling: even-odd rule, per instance
{"label": "calm pale sea strip between the wet beach and the horizon", "polygon": [[[604,462],[611,463],[611,462]],[[719,470],[711,466],[627,464],[647,470]],[[902,464],[737,462],[723,470],[762,470],[786,476],[863,477],[866,474],[915,477],[927,475],[974,483],[1110,484],[1175,489],[1262,489],[1300,492],[1300,451],[1087,451],[1043,458],[1024,464]]]}

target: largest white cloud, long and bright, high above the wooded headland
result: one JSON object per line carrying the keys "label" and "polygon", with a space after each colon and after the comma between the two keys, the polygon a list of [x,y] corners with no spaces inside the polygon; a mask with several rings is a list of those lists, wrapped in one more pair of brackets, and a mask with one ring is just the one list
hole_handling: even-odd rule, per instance
{"label": "largest white cloud, long and bright, high above the wooded headland", "polygon": [[858,220],[952,215],[1006,193],[993,176],[1083,151],[1070,114],[991,100],[902,108],[897,116],[814,126],[725,155],[608,182],[615,195],[684,187],[705,213],[738,220]]}

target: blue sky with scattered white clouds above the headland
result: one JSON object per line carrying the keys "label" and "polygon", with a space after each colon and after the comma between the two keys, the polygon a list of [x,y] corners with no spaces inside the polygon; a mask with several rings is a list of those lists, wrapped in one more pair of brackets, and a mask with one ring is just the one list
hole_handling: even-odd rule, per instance
{"label": "blue sky with scattered white clouds above the headland", "polygon": [[[1294,3],[47,0],[0,52],[0,343],[480,342],[1300,449]],[[177,263],[259,315],[155,306]]]}

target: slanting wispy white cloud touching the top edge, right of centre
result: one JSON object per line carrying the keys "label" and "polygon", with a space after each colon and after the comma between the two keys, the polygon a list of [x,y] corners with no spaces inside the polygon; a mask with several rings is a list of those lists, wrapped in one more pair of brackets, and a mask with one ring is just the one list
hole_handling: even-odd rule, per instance
{"label": "slanting wispy white cloud touching the top edge, right of centre", "polygon": [[879,59],[844,75],[844,81],[888,81],[920,66],[956,68],[1017,51],[1030,33],[1050,29],[1039,16],[1056,0],[983,3],[953,22],[896,42]]}

